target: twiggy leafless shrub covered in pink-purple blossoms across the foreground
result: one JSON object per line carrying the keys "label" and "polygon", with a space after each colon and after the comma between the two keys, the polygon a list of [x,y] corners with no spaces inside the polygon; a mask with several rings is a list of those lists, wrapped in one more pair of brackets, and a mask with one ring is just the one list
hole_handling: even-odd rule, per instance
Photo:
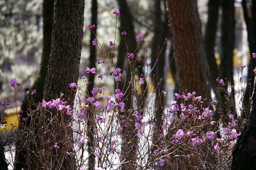
{"label": "twiggy leafless shrub covered in pink-purple blossoms across the foreground", "polygon": [[[116,10],[113,14],[120,16],[120,12]],[[95,25],[87,26],[87,29],[93,28]],[[121,36],[127,34],[124,31]],[[143,37],[142,33],[136,36],[138,43]],[[110,41],[109,44],[116,48],[116,43]],[[97,39],[92,41],[92,45],[103,50]],[[127,54],[129,63],[138,55],[135,52]],[[102,51],[102,54],[105,53]],[[148,86],[150,74],[136,75],[136,70],[142,68],[131,66],[131,90],[121,89],[118,84],[127,76],[126,72],[116,68],[113,57],[104,55],[104,58],[105,61],[97,63],[108,70],[109,78],[116,82],[117,87],[109,96],[106,96],[108,89],[101,86],[102,74],[98,74],[99,84],[91,92],[87,90],[90,82],[86,76],[80,77],[86,87],[84,90],[70,82],[70,88],[77,92],[74,106],[70,106],[69,101],[62,96],[34,104],[32,97],[36,95],[36,90],[26,92],[30,107],[27,117],[22,117],[23,111],[17,113],[22,129],[16,131],[16,135],[20,137],[16,142],[19,150],[26,150],[28,153],[26,160],[29,169],[50,169],[54,162],[59,162],[54,169],[61,169],[63,161],[70,161],[70,157],[75,157],[76,162],[70,161],[70,169],[83,170],[90,166],[89,154],[95,157],[95,170],[120,169],[126,164],[132,164],[134,169],[150,170],[161,167],[230,168],[231,152],[244,123],[241,117],[236,118],[229,111],[225,117],[228,123],[224,125],[222,120],[216,121],[213,118],[214,113],[218,112],[217,102],[207,104],[208,100],[197,96],[196,92],[186,92],[175,94],[175,100],[169,108],[161,106],[165,111],[158,127],[156,111],[160,108],[154,108],[155,104],[152,102],[157,90]],[[98,70],[86,67],[85,72],[90,76]],[[217,82],[220,86],[225,84],[220,78],[217,78]],[[16,85],[20,84],[14,78],[10,81],[10,86],[16,88]],[[126,106],[126,98],[123,97],[128,93],[132,102]],[[166,99],[167,94],[162,91],[158,95]],[[5,107],[8,105],[6,101],[2,104]],[[9,134],[6,132],[6,135]],[[10,144],[15,140],[13,135],[8,136]],[[87,153],[88,147],[90,153]],[[10,150],[13,151],[13,148]],[[57,155],[60,156],[58,159]]]}

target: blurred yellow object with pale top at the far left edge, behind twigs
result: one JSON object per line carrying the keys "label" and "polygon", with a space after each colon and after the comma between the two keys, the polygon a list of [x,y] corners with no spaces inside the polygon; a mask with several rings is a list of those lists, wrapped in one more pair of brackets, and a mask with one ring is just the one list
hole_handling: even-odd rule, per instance
{"label": "blurred yellow object with pale top at the far left edge, behind twigs", "polygon": [[18,114],[17,111],[20,111],[20,107],[18,106],[16,108],[11,108],[11,109],[5,109],[5,122],[6,124],[1,125],[0,132],[4,133],[6,131],[11,131],[12,129],[17,129],[19,127],[19,121],[18,121]]}

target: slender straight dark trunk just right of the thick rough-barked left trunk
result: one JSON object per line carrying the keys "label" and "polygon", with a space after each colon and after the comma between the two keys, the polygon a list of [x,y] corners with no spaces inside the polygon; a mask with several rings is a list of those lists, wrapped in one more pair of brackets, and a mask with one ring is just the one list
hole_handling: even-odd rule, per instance
{"label": "slender straight dark trunk just right of the thick rough-barked left trunk", "polygon": [[[95,35],[96,35],[96,30],[97,30],[97,15],[98,15],[98,3],[97,3],[97,0],[92,0],[92,18],[91,18],[91,24],[95,25],[96,27],[94,29],[90,29],[91,30],[91,40],[90,42],[92,42],[95,38]],[[93,33],[94,32],[94,33]],[[94,35],[95,34],[95,35]],[[94,45],[91,45],[90,46],[90,57],[89,57],[89,60],[90,60],[90,65],[89,67],[90,68],[93,68],[93,67],[96,67],[96,46]],[[92,89],[94,87],[94,78],[95,78],[95,74],[90,74],[90,77],[88,79],[89,82],[91,82],[91,84],[88,86],[88,92],[87,94],[89,96],[92,96]],[[91,115],[91,112],[89,111],[89,117],[92,117]],[[89,157],[88,157],[88,167],[89,169],[94,169],[94,163],[95,163],[95,156],[94,154],[92,153],[93,152],[93,141],[94,141],[94,137],[93,137],[93,134],[94,134],[94,129],[93,128],[90,128],[90,124],[88,123],[88,129],[90,129],[89,131],[89,134],[88,134],[88,153],[89,153]]]}

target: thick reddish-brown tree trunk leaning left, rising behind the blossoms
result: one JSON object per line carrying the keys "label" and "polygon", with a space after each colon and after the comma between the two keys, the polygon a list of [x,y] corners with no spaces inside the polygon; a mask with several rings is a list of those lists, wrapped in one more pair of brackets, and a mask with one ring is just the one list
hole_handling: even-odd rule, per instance
{"label": "thick reddish-brown tree trunk leaning left, rising behind the blossoms", "polygon": [[210,100],[206,85],[209,81],[209,66],[196,0],[166,2],[180,91],[196,91],[197,95]]}

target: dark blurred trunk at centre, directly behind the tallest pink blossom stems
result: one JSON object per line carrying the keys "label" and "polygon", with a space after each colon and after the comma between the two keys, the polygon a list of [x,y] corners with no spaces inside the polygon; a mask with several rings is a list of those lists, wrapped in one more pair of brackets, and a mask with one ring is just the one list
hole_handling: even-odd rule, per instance
{"label": "dark blurred trunk at centre, directly behind the tallest pink blossom stems", "polygon": [[[129,10],[126,0],[118,0],[118,5],[120,10],[119,30],[120,30],[120,33],[123,31],[126,31],[127,35],[126,36],[123,35],[118,48],[118,61],[117,61],[116,67],[117,68],[119,67],[122,69],[124,76],[122,78],[122,81],[119,82],[117,87],[121,91],[126,92],[123,96],[123,98],[126,99],[124,100],[124,103],[126,105],[125,117],[130,117],[130,112],[128,109],[132,108],[133,92],[131,89],[133,89],[134,87],[132,87],[133,84],[129,86],[129,82],[132,77],[132,74],[134,74],[131,72],[131,70],[134,70],[134,67],[136,66],[135,50],[136,50],[137,42],[135,40],[136,35],[134,33],[134,25],[132,20],[133,17]],[[127,53],[134,53],[134,58],[130,59],[130,64],[128,63]],[[125,81],[124,81],[124,78],[126,79]],[[134,166],[135,166],[134,160],[136,160],[137,149],[135,145],[137,145],[138,143],[138,138],[136,136],[134,122],[129,121],[129,123],[130,124],[127,125],[127,127],[125,127],[124,130],[122,131],[125,138],[122,141],[121,160],[125,160],[125,162],[127,162],[125,164],[122,164],[122,170],[134,169]]]}

